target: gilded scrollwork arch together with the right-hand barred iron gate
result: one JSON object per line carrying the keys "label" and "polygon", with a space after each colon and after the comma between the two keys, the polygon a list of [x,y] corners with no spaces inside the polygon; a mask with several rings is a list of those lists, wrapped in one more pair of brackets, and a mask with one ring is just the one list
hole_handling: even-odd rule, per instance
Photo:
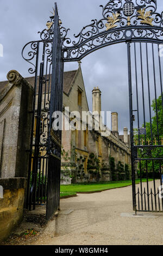
{"label": "gilded scrollwork arch together with the right-hand barred iron gate", "polygon": [[[163,95],[159,54],[163,42],[163,13],[156,12],[156,0],[110,0],[101,7],[102,19],[92,20],[75,36],[76,40],[66,38],[66,31],[62,40],[64,62],[81,60],[99,48],[126,42],[133,209],[163,211]],[[140,178],[140,186],[136,186],[135,178]]]}

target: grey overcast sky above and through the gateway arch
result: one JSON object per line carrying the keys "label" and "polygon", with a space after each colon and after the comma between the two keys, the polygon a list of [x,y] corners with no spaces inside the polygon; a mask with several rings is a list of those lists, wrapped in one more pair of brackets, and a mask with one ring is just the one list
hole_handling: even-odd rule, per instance
{"label": "grey overcast sky above and through the gateway arch", "polygon": [[[163,1],[158,0],[158,9],[163,10]],[[70,28],[70,34],[78,34],[91,23],[102,17],[100,4],[108,0],[58,0],[62,25]],[[0,81],[6,80],[9,70],[15,69],[23,77],[28,74],[29,65],[21,56],[23,46],[39,39],[38,31],[46,28],[51,16],[54,0],[0,0],[0,44],[4,47],[4,57],[0,57]],[[66,63],[65,71],[78,68],[78,63]],[[102,91],[102,110],[119,114],[119,131],[129,128],[128,73],[126,44],[108,46],[91,53],[82,60],[82,71],[92,110],[92,88]]]}

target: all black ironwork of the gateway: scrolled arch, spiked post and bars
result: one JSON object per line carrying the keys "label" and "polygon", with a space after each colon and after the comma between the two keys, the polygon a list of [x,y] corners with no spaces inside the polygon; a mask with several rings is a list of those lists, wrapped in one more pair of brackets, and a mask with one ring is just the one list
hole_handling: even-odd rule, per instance
{"label": "all black ironwork of the gateway: scrolled arch, spiked post and bars", "polygon": [[[130,131],[131,131],[131,155],[133,166],[133,206],[136,208],[136,196],[142,197],[146,194],[155,198],[159,196],[158,192],[135,191],[135,161],[144,160],[142,157],[149,157],[152,154],[153,144],[149,150],[145,149],[139,159],[142,145],[134,144],[133,132],[133,105],[132,105],[132,81],[131,81],[131,56],[130,45],[134,42],[140,44],[146,43],[146,52],[148,53],[148,43],[162,44],[163,41],[163,12],[157,12],[156,0],[110,0],[102,8],[102,18],[94,19],[89,25],[82,28],[79,34],[74,35],[74,39],[68,37],[69,29],[62,26],[59,20],[57,4],[53,9],[52,16],[46,23],[46,28],[40,34],[40,40],[31,41],[26,44],[22,50],[22,56],[31,65],[30,74],[35,74],[34,103],[33,103],[33,123],[32,136],[30,143],[30,163],[28,175],[28,192],[27,207],[35,209],[37,203],[47,202],[47,218],[50,218],[53,211],[59,206],[59,185],[60,185],[60,148],[61,148],[61,131],[56,133],[52,129],[52,113],[54,110],[62,109],[62,77],[64,72],[64,62],[79,61],[87,54],[96,51],[102,47],[117,44],[120,42],[127,43],[128,49],[128,75],[129,75],[129,100],[130,100]],[[135,47],[136,48],[136,47]],[[154,51],[152,48],[153,56]],[[41,57],[40,57],[41,56]],[[142,58],[142,53],[141,53]],[[41,61],[40,61],[41,59]],[[147,54],[148,62],[148,54]],[[154,62],[154,58],[153,58]],[[160,62],[160,59],[159,59]],[[142,64],[142,59],[141,59]],[[136,50],[135,50],[136,66]],[[161,65],[160,65],[161,67]],[[148,67],[147,67],[148,68]],[[136,70],[137,71],[137,70]],[[149,71],[149,70],[148,70]],[[40,75],[39,75],[40,74]],[[39,77],[38,77],[39,76]],[[161,77],[161,68],[160,68]],[[148,74],[149,78],[149,74]],[[162,78],[160,78],[160,81]],[[148,79],[149,80],[149,79]],[[143,82],[143,81],[142,81]],[[162,94],[162,84],[161,84]],[[156,100],[156,99],[155,99]],[[163,102],[163,97],[162,97]],[[163,107],[163,103],[162,103]],[[145,109],[143,109],[145,112]],[[139,109],[137,108],[137,113]],[[144,123],[144,129],[146,122]],[[34,131],[34,128],[36,131]],[[137,129],[141,129],[138,125]],[[140,136],[140,135],[139,135]],[[142,136],[142,135],[141,135]],[[146,136],[146,135],[144,135]],[[159,136],[158,136],[159,137]],[[59,138],[59,139],[58,139]],[[147,139],[145,138],[147,142]],[[155,147],[160,145],[160,138]],[[145,147],[147,146],[145,145]],[[141,147],[140,147],[141,146]],[[159,151],[158,151],[159,152]],[[160,155],[159,155],[160,156]],[[149,159],[145,159],[148,161]],[[154,161],[152,159],[151,161]],[[158,161],[162,161],[159,157]],[[141,166],[141,164],[140,164]],[[56,168],[55,168],[56,167]],[[160,163],[161,175],[161,163]],[[54,172],[54,169],[56,172]],[[148,171],[147,171],[148,173]],[[39,176],[38,176],[39,174]],[[32,178],[32,183],[31,183]],[[160,177],[161,178],[161,177]],[[155,178],[154,184],[155,184]],[[55,180],[55,186],[53,181]],[[147,176],[148,180],[148,176]],[[160,179],[161,180],[161,179]],[[142,179],[141,179],[142,182]],[[142,185],[142,183],[141,183]],[[147,182],[148,186],[148,182]],[[140,199],[140,198],[139,198]],[[152,198],[153,200],[153,198]],[[140,200],[139,200],[140,203]],[[152,203],[153,204],[153,203]],[[140,205],[140,204],[139,204]],[[142,211],[150,210],[143,205]],[[153,206],[152,206],[153,209]],[[163,210],[163,199],[162,199]],[[155,211],[157,208],[155,206]],[[160,211],[160,201],[159,201]]]}

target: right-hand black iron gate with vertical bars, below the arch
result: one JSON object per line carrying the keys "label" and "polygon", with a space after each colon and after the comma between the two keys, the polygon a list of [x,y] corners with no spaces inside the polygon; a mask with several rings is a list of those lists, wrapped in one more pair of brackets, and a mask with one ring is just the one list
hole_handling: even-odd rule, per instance
{"label": "right-hand black iron gate with vertical bars, below the arch", "polygon": [[[163,211],[163,94],[159,44],[128,42],[135,211]],[[131,58],[132,56],[132,58]],[[132,60],[132,61],[131,61]],[[135,178],[140,184],[135,184]]]}

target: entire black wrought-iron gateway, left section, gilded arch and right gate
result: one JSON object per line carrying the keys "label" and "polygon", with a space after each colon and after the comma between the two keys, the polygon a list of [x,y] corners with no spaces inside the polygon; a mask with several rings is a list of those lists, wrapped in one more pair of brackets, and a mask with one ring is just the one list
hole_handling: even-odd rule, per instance
{"label": "entire black wrought-iron gateway, left section, gilded arch and right gate", "polygon": [[[47,203],[47,218],[59,207],[61,131],[53,130],[52,114],[62,110],[63,63],[121,42],[128,50],[133,208],[163,211],[163,95],[158,55],[163,13],[156,11],[156,0],[110,0],[101,7],[102,19],[92,20],[72,40],[67,37],[69,29],[61,26],[55,3],[41,40],[23,48],[23,58],[32,64],[29,73],[35,74],[27,208]],[[140,179],[139,186],[135,178]]]}

